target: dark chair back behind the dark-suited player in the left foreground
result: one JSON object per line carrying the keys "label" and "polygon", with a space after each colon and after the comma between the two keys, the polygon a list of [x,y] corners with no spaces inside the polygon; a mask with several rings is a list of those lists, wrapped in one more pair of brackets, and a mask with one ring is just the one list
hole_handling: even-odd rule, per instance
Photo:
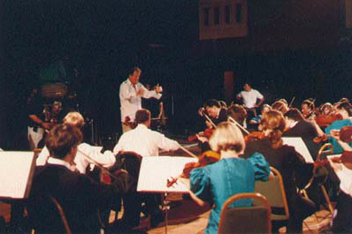
{"label": "dark chair back behind the dark-suited player in the left foreground", "polygon": [[35,233],[71,233],[64,210],[54,197],[43,195],[30,199],[27,213]]}

